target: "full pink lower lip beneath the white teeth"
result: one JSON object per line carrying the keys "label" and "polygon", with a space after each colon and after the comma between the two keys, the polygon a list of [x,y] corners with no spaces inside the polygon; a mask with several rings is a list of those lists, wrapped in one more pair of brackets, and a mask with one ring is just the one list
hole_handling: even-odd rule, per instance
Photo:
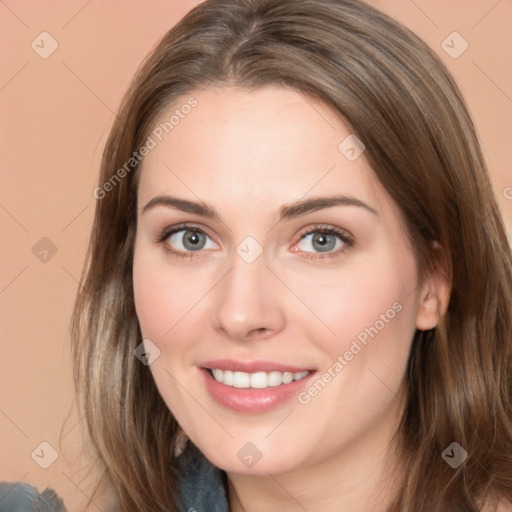
{"label": "full pink lower lip beneath the white teeth", "polygon": [[205,379],[206,389],[220,405],[237,412],[261,413],[287,402],[304,388],[316,372],[311,372],[301,380],[289,384],[264,389],[234,388],[217,382],[204,368],[200,369]]}

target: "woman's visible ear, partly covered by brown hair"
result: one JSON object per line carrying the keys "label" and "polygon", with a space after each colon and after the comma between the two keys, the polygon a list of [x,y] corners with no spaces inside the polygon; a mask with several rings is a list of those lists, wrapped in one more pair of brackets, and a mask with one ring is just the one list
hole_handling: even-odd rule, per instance
{"label": "woman's visible ear, partly covered by brown hair", "polygon": [[421,285],[419,294],[416,328],[420,331],[436,327],[450,302],[451,282],[445,253],[437,242],[433,243],[433,250],[437,253],[435,268]]}

